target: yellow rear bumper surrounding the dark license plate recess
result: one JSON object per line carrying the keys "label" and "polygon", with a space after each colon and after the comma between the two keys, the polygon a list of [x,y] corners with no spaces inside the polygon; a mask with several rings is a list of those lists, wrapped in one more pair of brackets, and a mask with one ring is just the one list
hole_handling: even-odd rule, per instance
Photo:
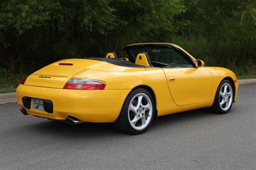
{"label": "yellow rear bumper surrounding the dark license plate recess", "polygon": [[18,104],[23,108],[23,97],[41,98],[53,104],[53,113],[36,111],[31,107],[26,109],[28,114],[54,120],[74,116],[86,122],[114,122],[130,91],[131,89],[72,90],[19,85],[16,93]]}

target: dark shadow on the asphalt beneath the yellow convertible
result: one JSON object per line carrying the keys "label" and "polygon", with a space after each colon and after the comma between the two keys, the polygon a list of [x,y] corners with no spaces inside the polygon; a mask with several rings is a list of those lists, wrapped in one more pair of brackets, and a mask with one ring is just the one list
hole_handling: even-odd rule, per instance
{"label": "dark shadow on the asphalt beneath the yellow convertible", "polygon": [[[211,118],[216,116],[208,111],[208,109],[200,109],[196,111],[180,112],[176,114],[170,114],[168,116],[159,117],[150,128],[150,132],[154,129],[172,128],[173,126],[184,125],[191,121],[196,121],[198,119]],[[81,125],[68,125],[65,122],[61,121],[41,121],[40,123],[33,123],[29,125],[29,128],[33,128],[37,133],[42,132],[52,135],[61,135],[72,138],[81,138],[81,137],[97,137],[97,136],[122,136],[122,134],[116,131],[114,123],[83,123]],[[155,130],[156,130],[155,129]],[[28,127],[27,127],[28,130]]]}

